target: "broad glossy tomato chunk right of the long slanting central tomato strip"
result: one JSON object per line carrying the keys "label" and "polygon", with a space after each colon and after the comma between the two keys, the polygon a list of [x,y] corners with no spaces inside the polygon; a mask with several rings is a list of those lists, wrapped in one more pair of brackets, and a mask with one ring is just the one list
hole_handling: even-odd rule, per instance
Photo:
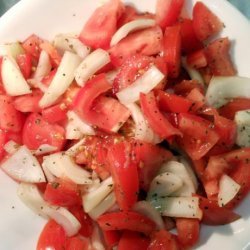
{"label": "broad glossy tomato chunk right of the long slanting central tomato strip", "polygon": [[[192,160],[199,160],[218,142],[219,135],[209,121],[191,114],[179,114],[180,145]],[[195,131],[195,133],[194,133]]]}

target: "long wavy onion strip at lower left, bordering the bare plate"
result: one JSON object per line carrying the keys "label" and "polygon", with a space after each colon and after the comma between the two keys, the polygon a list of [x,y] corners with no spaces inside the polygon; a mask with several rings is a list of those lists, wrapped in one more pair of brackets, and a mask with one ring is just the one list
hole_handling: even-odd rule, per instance
{"label": "long wavy onion strip at lower left, bordering the bare plate", "polygon": [[66,208],[51,206],[42,197],[36,185],[21,183],[17,194],[19,198],[35,213],[45,218],[50,217],[60,224],[67,236],[79,231],[81,224]]}

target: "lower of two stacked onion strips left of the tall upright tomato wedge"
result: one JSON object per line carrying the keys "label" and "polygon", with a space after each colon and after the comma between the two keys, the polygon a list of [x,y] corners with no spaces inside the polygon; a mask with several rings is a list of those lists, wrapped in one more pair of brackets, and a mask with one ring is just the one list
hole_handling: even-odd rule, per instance
{"label": "lower of two stacked onion strips left of the tall upright tomato wedge", "polygon": [[93,219],[96,220],[100,215],[107,212],[111,207],[115,205],[116,199],[114,192],[111,192],[108,196],[104,198],[96,207],[91,209],[88,214]]}

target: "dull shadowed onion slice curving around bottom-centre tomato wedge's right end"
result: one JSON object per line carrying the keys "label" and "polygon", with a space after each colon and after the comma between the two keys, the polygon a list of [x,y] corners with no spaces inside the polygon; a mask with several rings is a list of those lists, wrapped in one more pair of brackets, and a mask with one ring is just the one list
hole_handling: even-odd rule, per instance
{"label": "dull shadowed onion slice curving around bottom-centre tomato wedge's right end", "polygon": [[165,228],[161,215],[148,201],[138,201],[133,206],[133,210],[147,216],[149,219],[154,221],[157,225],[157,229],[161,230]]}

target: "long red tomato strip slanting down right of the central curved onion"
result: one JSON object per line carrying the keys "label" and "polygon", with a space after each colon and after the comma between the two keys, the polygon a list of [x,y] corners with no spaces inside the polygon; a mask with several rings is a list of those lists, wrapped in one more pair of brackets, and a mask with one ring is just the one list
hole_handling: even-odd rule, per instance
{"label": "long red tomato strip slanting down right of the central curved onion", "polygon": [[160,112],[153,92],[149,92],[146,95],[141,93],[140,103],[143,114],[145,115],[149,125],[162,139],[166,139],[174,135],[181,135],[181,132],[173,127],[166,117],[164,117],[164,115]]}

